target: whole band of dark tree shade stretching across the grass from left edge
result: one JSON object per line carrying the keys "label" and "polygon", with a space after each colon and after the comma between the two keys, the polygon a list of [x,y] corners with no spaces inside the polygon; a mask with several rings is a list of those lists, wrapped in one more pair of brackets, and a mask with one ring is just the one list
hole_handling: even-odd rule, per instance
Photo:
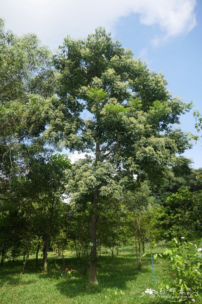
{"label": "whole band of dark tree shade stretching across the grass from left edge", "polygon": [[[36,281],[41,284],[44,279],[54,281],[55,288],[67,298],[74,298],[78,295],[92,295],[103,292],[104,289],[127,289],[127,282],[134,281],[137,276],[147,274],[150,267],[150,257],[145,257],[142,261],[142,269],[139,271],[134,255],[127,257],[101,256],[98,258],[98,284],[88,284],[88,272],[84,276],[81,271],[82,259],[76,257],[65,259],[65,267],[69,270],[74,269],[71,275],[62,271],[62,258],[50,257],[48,259],[48,271],[43,272],[43,259],[39,259],[39,268],[35,268],[34,259],[28,260],[25,269],[25,277],[22,280],[20,271],[22,270],[23,261],[16,264],[5,262],[3,268],[0,268],[0,284],[16,286],[35,284]],[[89,267],[88,267],[89,268]],[[33,275],[30,276],[29,275]]]}

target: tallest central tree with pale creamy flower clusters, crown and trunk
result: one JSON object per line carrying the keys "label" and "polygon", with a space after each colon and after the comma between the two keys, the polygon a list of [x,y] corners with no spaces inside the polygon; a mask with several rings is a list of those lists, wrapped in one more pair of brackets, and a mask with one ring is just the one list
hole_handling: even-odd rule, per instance
{"label": "tallest central tree with pale creamy flower clusters, crown and trunk", "polygon": [[86,39],[65,38],[54,63],[60,115],[52,116],[46,134],[70,151],[88,153],[67,176],[72,204],[92,205],[89,282],[96,282],[98,209],[146,178],[157,185],[168,167],[187,170],[189,161],[176,153],[190,144],[172,124],[191,104],[172,98],[164,77],[103,28]]}

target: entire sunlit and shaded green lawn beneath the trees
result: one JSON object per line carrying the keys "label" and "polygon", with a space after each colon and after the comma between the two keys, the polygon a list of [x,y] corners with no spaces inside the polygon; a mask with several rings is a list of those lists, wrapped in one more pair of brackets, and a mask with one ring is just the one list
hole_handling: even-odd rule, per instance
{"label": "entire sunlit and shaded green lawn beneath the trees", "polygon": [[[146,251],[150,249],[146,248]],[[153,253],[161,252],[158,244]],[[1,304],[56,304],[56,303],[92,303],[92,304],[130,304],[130,303],[165,303],[155,296],[153,299],[145,294],[146,288],[158,290],[161,283],[161,266],[154,261],[155,283],[153,281],[151,256],[142,258],[142,269],[138,270],[137,260],[132,247],[120,250],[119,257],[108,254],[98,257],[98,284],[88,284],[88,272],[82,275],[75,253],[66,252],[65,267],[75,269],[71,275],[62,272],[62,259],[55,253],[48,255],[48,272],[43,273],[42,259],[40,267],[35,268],[34,255],[28,260],[25,274],[20,275],[23,261],[4,262],[0,269],[0,303]]]}

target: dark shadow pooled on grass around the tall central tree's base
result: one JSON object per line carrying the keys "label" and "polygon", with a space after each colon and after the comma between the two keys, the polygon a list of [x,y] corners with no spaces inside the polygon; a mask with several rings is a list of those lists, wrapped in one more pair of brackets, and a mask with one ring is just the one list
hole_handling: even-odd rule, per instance
{"label": "dark shadow pooled on grass around the tall central tree's base", "polygon": [[82,276],[74,273],[67,279],[61,279],[56,283],[56,288],[68,298],[78,295],[101,293],[103,289],[115,288],[125,290],[127,282],[136,279],[139,272],[147,272],[147,266],[138,270],[133,258],[101,257],[98,259],[98,284],[88,284],[88,274]]}

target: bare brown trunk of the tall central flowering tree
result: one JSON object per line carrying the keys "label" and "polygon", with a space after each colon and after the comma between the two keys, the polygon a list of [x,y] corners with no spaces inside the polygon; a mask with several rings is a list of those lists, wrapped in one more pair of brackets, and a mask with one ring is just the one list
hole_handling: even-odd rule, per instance
{"label": "bare brown trunk of the tall central flowering tree", "polygon": [[[96,143],[95,160],[99,160],[100,145]],[[98,193],[99,187],[94,187],[93,194],[93,214],[91,217],[91,261],[90,261],[90,272],[89,272],[89,283],[97,282],[97,240],[96,240],[96,223],[97,223],[97,205],[98,205]]]}

